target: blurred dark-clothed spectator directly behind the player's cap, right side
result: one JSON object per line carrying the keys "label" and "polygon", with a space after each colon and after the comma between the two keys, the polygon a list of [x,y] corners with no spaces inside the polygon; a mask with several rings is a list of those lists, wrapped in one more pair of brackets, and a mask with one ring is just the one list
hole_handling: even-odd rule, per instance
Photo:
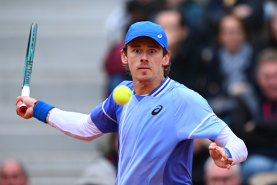
{"label": "blurred dark-clothed spectator directly behind the player's cap, right side", "polygon": [[199,55],[181,11],[175,8],[163,9],[155,15],[155,22],[164,28],[168,38],[168,49],[171,52],[169,76],[196,90]]}

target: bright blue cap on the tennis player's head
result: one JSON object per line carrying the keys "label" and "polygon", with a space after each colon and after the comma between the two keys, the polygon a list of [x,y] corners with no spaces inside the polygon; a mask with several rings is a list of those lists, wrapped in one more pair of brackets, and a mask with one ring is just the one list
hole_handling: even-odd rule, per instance
{"label": "bright blue cap on the tennis player's head", "polygon": [[167,37],[162,26],[150,21],[132,24],[125,37],[125,45],[137,37],[150,37],[167,49]]}

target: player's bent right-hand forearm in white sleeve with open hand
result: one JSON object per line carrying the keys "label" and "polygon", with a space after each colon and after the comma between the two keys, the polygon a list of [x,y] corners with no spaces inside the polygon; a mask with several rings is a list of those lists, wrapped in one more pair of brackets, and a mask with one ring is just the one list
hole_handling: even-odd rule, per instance
{"label": "player's bent right-hand forearm in white sleeve with open hand", "polygon": [[228,126],[210,144],[209,150],[215,164],[221,168],[230,168],[231,165],[243,162],[248,155],[244,142]]}

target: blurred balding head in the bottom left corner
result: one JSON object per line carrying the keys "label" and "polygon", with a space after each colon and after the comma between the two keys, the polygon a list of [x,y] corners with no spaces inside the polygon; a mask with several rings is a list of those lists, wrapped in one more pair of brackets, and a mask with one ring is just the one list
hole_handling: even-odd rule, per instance
{"label": "blurred balding head in the bottom left corner", "polygon": [[6,160],[1,166],[0,185],[27,185],[28,175],[17,160]]}

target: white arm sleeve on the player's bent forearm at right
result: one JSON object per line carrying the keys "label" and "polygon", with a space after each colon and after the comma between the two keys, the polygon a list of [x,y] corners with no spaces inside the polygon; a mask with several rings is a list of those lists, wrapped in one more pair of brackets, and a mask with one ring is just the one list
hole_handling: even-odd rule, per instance
{"label": "white arm sleeve on the player's bent forearm at right", "polygon": [[221,147],[226,147],[230,151],[233,158],[233,165],[246,160],[248,151],[244,142],[228,126],[221,131],[215,143]]}

